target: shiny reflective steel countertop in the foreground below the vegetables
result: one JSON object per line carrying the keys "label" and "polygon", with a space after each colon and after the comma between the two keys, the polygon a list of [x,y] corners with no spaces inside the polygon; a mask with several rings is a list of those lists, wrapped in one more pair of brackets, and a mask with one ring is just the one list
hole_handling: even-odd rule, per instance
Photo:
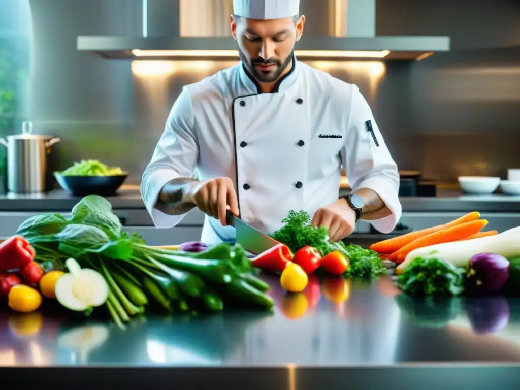
{"label": "shiny reflective steel countertop in the foreground below the vegetables", "polygon": [[[2,305],[2,382],[23,387],[50,381],[52,374],[53,388],[71,383],[95,388],[103,381],[145,388],[136,382],[146,380],[146,388],[159,388],[160,381],[179,388],[186,381],[205,389],[238,388],[236,383],[262,389],[345,388],[340,386],[345,383],[437,389],[448,374],[462,375],[453,384],[464,378],[467,388],[484,388],[497,384],[493,370],[502,370],[501,389],[517,384],[518,376],[503,370],[520,362],[519,299],[478,298],[471,306],[462,298],[425,303],[401,295],[389,277],[374,282],[311,277],[303,293],[287,294],[277,277],[263,279],[276,302],[272,313],[242,309],[194,318],[150,313],[125,331],[103,314],[74,318],[49,302],[46,311],[32,314],[13,314]],[[467,373],[472,365],[483,368]],[[6,367],[22,372],[7,375]],[[95,367],[109,369],[94,371],[99,377],[85,370]],[[297,384],[287,387],[291,375]],[[355,386],[360,383],[365,386]],[[456,388],[449,384],[446,388]]]}

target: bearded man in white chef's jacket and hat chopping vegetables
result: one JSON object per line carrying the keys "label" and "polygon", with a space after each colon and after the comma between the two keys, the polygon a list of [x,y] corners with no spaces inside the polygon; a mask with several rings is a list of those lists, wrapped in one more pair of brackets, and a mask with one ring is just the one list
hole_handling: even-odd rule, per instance
{"label": "bearded man in white chef's jacket and hat chopping vegetables", "polygon": [[[299,8],[233,0],[241,61],[183,88],[142,176],[156,227],[177,225],[194,207],[206,214],[209,244],[235,240],[226,210],[267,234],[290,210],[305,210],[331,241],[359,219],[384,233],[396,226],[397,166],[358,87],[295,57]],[[342,165],[353,191],[340,198]]]}

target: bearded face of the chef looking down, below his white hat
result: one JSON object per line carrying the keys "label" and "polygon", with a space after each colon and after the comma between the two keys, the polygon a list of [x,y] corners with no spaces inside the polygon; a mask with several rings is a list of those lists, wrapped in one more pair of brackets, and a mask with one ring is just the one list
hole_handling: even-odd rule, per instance
{"label": "bearded face of the chef looking down, below his white hat", "polygon": [[288,71],[304,23],[305,16],[272,20],[231,16],[240,59],[259,82],[275,82]]}

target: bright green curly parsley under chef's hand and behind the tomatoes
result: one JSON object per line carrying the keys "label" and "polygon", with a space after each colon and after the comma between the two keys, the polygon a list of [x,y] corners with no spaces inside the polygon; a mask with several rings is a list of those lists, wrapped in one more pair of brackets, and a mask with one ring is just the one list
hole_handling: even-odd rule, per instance
{"label": "bright green curly parsley under chef's hand and behind the tomatoes", "polygon": [[282,219],[282,223],[283,226],[272,238],[287,245],[293,253],[306,245],[314,246],[323,256],[339,251],[350,261],[345,276],[352,278],[375,279],[386,272],[378,253],[359,245],[345,245],[341,241],[329,242],[327,229],[314,227],[306,211],[291,210],[289,215]]}

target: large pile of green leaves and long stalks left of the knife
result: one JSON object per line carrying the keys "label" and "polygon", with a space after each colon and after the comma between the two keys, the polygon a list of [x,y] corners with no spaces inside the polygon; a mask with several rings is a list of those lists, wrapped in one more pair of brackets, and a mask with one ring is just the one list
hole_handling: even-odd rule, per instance
{"label": "large pile of green leaves and long stalks left of the knife", "polygon": [[168,251],[129,235],[104,198],[91,195],[72,209],[70,218],[43,214],[29,218],[17,234],[36,251],[36,261],[64,266],[75,258],[82,268],[105,277],[107,308],[124,328],[131,316],[144,313],[148,300],[168,312],[218,311],[237,301],[271,308],[268,285],[252,274],[240,245],[219,244],[199,253]]}

